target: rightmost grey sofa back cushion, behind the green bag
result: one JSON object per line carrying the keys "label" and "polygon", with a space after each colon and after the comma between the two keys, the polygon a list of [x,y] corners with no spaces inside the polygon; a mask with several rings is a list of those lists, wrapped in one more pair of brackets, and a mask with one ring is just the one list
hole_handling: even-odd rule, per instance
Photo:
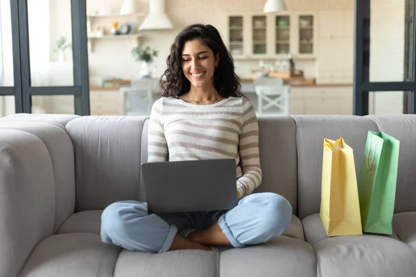
{"label": "rightmost grey sofa back cushion, behind the green bag", "polygon": [[416,115],[366,116],[400,141],[395,213],[416,211]]}

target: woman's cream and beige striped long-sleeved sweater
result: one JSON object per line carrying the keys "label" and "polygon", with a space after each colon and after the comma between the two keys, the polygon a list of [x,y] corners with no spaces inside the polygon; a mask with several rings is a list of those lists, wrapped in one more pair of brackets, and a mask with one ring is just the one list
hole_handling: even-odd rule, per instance
{"label": "woman's cream and beige striped long-sleeved sweater", "polygon": [[259,126],[245,98],[193,105],[162,97],[148,126],[148,162],[227,159],[236,161],[236,189],[243,197],[261,183]]}

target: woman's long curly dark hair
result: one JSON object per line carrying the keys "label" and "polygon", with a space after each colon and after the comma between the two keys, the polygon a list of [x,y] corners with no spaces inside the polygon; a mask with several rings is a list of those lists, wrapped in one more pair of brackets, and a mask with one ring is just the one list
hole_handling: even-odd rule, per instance
{"label": "woman's long curly dark hair", "polygon": [[[225,98],[230,96],[245,97],[241,93],[240,78],[234,72],[234,60],[229,54],[218,30],[211,25],[193,24],[184,28],[171,46],[166,64],[168,68],[160,79],[163,96],[181,96],[191,89],[191,82],[182,71],[182,49],[186,42],[200,39],[211,51],[220,56],[218,67],[214,71],[214,87]],[[164,76],[166,80],[163,80]]]}

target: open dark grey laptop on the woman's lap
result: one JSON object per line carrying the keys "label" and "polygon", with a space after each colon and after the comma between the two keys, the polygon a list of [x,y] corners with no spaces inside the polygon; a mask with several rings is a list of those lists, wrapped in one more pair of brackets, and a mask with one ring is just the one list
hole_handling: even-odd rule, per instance
{"label": "open dark grey laptop on the woman's lap", "polygon": [[238,201],[234,159],[142,163],[141,177],[149,213],[229,210]]}

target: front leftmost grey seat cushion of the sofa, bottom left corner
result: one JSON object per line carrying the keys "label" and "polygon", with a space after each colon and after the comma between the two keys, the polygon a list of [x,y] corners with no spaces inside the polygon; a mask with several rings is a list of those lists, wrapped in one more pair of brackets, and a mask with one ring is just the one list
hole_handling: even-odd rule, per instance
{"label": "front leftmost grey seat cushion of the sofa, bottom left corner", "polygon": [[101,242],[99,235],[52,235],[37,244],[20,277],[112,277],[121,247]]}

